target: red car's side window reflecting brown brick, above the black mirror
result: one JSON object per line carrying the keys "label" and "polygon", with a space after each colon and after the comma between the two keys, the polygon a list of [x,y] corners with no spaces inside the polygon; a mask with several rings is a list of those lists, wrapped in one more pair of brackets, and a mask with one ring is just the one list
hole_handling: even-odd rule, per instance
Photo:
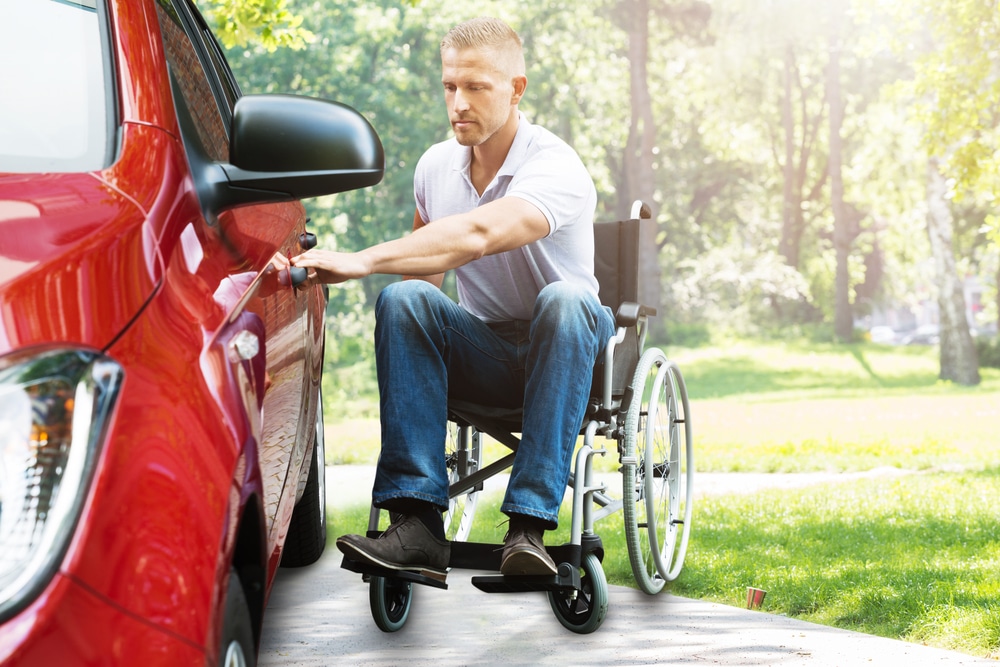
{"label": "red car's side window reflecting brown brick, above the black mirror", "polygon": [[[231,115],[231,109],[227,105],[224,117],[213,81],[206,73],[199,51],[185,30],[185,7],[180,2],[158,0],[157,12],[167,63],[194,121],[198,139],[209,158],[226,162],[229,160],[226,118]],[[190,18],[190,14],[187,16]],[[214,83],[218,85],[217,82]]]}

